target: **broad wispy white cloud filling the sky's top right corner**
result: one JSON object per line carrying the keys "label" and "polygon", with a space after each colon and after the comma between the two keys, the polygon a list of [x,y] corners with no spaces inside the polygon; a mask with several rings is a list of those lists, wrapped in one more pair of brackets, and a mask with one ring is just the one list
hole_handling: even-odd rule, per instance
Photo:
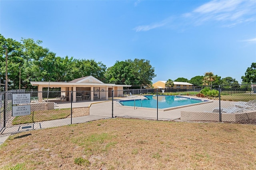
{"label": "broad wispy white cloud filling the sky's top right corner", "polygon": [[256,1],[253,0],[213,0],[199,6],[184,17],[193,18],[196,24],[215,20],[234,26],[255,20],[255,10]]}

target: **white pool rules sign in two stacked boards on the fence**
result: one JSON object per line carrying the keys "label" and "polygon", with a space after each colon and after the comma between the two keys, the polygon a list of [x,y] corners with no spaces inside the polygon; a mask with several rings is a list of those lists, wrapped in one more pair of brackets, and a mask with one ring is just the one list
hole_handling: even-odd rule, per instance
{"label": "white pool rules sign in two stacked boards on the fence", "polygon": [[[28,103],[30,103],[30,93],[12,95],[13,105],[28,104]],[[12,116],[24,116],[24,115],[30,115],[30,105],[12,106]]]}

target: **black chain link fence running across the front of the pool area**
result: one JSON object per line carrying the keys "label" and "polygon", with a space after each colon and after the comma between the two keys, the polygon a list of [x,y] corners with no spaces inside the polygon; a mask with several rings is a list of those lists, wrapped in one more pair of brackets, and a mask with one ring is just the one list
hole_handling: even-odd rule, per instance
{"label": "black chain link fence running across the front of the pool area", "polygon": [[[114,117],[164,121],[252,120],[256,119],[253,92],[251,86],[0,92],[0,135]],[[116,96],[113,94],[118,97],[112,97]],[[25,110],[29,111],[27,115]]]}

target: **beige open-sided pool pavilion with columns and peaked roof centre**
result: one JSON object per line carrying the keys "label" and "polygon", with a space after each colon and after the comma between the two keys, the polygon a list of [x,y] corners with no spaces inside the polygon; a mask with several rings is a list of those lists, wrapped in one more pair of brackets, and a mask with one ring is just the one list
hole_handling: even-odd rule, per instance
{"label": "beige open-sided pool pavilion with columns and peaked roof centre", "polygon": [[[90,101],[95,99],[107,100],[108,97],[112,97],[112,90],[114,97],[122,97],[124,87],[131,87],[131,85],[103,83],[91,75],[70,82],[30,81],[30,83],[32,86],[38,86],[38,102],[43,101],[43,88],[61,88],[61,95],[56,98],[76,102],[83,99]],[[73,97],[71,93],[73,93]]]}

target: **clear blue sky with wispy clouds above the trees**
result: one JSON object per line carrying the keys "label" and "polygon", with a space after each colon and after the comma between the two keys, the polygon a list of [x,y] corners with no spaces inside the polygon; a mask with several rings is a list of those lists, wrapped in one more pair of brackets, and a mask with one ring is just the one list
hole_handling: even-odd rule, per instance
{"label": "clear blue sky with wispy clouds above the trees", "polygon": [[153,83],[208,71],[241,83],[256,62],[256,1],[0,0],[0,34],[107,67],[147,59]]}

